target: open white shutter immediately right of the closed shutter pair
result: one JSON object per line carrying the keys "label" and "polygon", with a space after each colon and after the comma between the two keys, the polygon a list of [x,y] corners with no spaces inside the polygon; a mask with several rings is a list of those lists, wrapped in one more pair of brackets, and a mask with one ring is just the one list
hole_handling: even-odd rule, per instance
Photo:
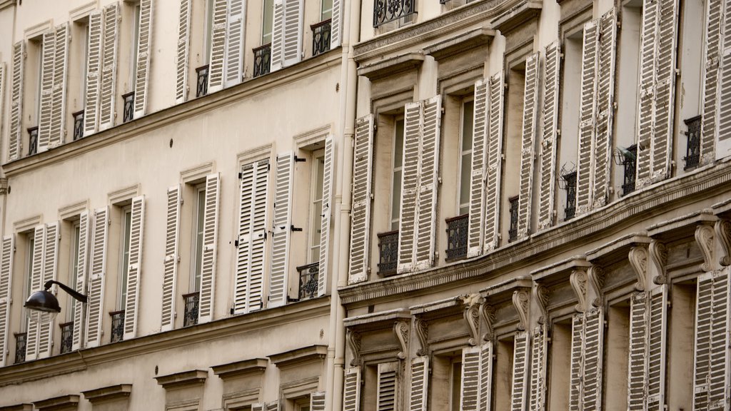
{"label": "open white shutter immediately right of the closed shutter pair", "polygon": [[295,176],[295,155],[291,151],[276,159],[274,186],[274,227],[269,271],[269,307],[287,303],[289,291],[289,238],[292,227],[292,183]]}

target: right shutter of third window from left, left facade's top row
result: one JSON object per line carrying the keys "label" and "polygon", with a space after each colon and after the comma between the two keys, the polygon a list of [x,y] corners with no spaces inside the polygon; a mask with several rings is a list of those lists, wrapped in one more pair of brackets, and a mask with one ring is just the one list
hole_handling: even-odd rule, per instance
{"label": "right shutter of third window from left, left facade's top row", "polygon": [[137,67],[135,68],[135,118],[147,110],[147,88],[150,78],[152,51],[153,0],[140,0],[140,35],[137,41]]}

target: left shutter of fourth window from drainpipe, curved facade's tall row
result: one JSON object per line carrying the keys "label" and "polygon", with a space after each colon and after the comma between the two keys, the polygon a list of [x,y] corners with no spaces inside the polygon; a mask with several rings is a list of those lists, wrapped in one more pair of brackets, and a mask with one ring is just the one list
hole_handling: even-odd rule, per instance
{"label": "left shutter of fourth window from drainpipe, curved facade's tall row", "polygon": [[553,208],[556,200],[556,154],[558,150],[559,79],[561,78],[561,44],[553,42],[545,51],[545,88],[543,90],[543,129],[540,148],[540,181],[538,200],[538,227],[548,228],[554,223]]}

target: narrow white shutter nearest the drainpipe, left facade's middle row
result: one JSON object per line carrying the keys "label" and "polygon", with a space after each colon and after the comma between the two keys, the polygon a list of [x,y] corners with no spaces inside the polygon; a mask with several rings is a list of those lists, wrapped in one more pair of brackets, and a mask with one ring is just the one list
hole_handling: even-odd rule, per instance
{"label": "narrow white shutter nearest the drainpipe, left facade's middle row", "polygon": [[327,276],[330,275],[330,219],[333,214],[333,185],[335,173],[335,141],[332,136],[325,139],[325,169],[322,173],[322,223],[320,225],[319,273],[317,295],[325,295]]}

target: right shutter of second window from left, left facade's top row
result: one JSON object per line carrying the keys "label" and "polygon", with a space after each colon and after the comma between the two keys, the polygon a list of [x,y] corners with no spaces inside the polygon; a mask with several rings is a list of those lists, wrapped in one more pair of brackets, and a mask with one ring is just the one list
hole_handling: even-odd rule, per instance
{"label": "right shutter of second window from left, left facade's top row", "polygon": [[86,56],[86,106],[84,135],[92,135],[99,127],[99,86],[102,79],[102,12],[89,15],[89,36]]}

